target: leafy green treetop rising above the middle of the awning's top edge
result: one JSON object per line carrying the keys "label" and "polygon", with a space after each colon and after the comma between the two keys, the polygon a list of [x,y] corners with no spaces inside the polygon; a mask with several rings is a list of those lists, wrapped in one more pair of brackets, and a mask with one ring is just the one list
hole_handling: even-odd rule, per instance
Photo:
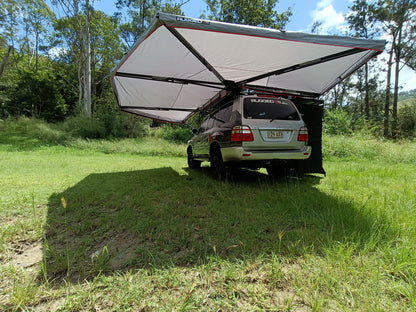
{"label": "leafy green treetop rising above the middle of the awning's top edge", "polygon": [[206,0],[208,18],[229,23],[284,29],[291,9],[277,13],[278,0]]}

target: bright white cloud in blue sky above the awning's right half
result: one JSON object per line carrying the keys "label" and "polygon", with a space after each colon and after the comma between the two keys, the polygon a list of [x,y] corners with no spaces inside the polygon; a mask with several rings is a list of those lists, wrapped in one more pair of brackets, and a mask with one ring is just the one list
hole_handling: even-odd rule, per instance
{"label": "bright white cloud in blue sky above the awning's right half", "polygon": [[342,12],[337,12],[332,5],[333,0],[321,0],[311,12],[312,20],[321,22],[321,34],[343,34],[347,22]]}

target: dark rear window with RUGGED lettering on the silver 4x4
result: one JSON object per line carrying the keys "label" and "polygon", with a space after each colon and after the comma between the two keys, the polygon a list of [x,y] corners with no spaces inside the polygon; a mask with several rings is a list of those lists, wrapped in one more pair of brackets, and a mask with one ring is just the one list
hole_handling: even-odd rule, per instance
{"label": "dark rear window with RUGGED lettering on the silver 4x4", "polygon": [[244,118],[300,120],[293,103],[276,98],[245,98]]}

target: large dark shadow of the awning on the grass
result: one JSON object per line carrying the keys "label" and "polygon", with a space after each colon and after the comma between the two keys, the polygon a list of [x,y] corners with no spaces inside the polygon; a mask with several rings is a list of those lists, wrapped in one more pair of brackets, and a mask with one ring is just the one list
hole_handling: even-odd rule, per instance
{"label": "large dark shadow of the awning on the grass", "polygon": [[208,168],[187,173],[158,168],[91,174],[51,196],[48,278],[75,281],[116,270],[194,266],[212,256],[295,258],[337,242],[364,246],[375,232],[380,235],[381,220],[320,192],[316,176],[274,181],[238,171],[233,182],[218,182],[207,176]]}

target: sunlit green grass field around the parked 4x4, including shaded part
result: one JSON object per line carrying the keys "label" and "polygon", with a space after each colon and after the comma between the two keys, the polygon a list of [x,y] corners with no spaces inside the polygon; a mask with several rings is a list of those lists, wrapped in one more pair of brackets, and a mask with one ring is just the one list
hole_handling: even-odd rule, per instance
{"label": "sunlit green grass field around the parked 4x4, including shaded part", "polygon": [[157,138],[0,131],[1,311],[416,310],[414,142],[218,182]]}

